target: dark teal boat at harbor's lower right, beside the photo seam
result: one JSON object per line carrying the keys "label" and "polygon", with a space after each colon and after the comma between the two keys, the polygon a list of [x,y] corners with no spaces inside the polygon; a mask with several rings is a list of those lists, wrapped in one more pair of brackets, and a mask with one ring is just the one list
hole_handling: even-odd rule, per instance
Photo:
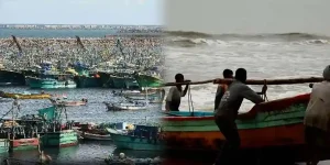
{"label": "dark teal boat at harbor's lower right, beside the photo seam", "polygon": [[139,151],[163,151],[165,143],[160,136],[158,127],[134,125],[128,133],[110,133],[117,148]]}

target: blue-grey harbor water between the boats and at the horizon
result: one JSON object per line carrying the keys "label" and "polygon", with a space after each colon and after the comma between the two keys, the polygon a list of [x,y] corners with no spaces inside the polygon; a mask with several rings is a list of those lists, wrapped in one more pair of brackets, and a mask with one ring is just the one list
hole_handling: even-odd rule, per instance
{"label": "blue-grey harbor water between the boats and at the horizon", "polygon": [[[107,34],[116,33],[113,30],[18,30],[18,29],[0,29],[0,37],[105,37]],[[41,90],[32,90],[28,87],[0,87],[6,92],[40,92]],[[77,122],[94,123],[111,123],[111,122],[130,122],[140,124],[156,124],[161,113],[161,106],[154,105],[143,111],[120,111],[108,112],[105,101],[116,101],[119,98],[112,96],[113,89],[88,88],[88,89],[56,89],[45,90],[52,95],[65,95],[70,100],[88,99],[88,105],[82,107],[67,108],[67,120]],[[51,107],[48,100],[20,100],[20,114],[36,114],[38,109]],[[12,108],[11,99],[0,99],[0,116],[2,117]],[[114,153],[124,153],[127,156],[135,158],[147,158],[160,156],[155,152],[134,152],[117,150],[112,142],[87,142],[80,141],[78,146],[65,148],[45,148],[53,161],[51,164],[105,164],[105,158]],[[2,154],[0,160],[11,157],[14,163],[35,164],[38,161],[37,151],[22,151],[13,154]]]}

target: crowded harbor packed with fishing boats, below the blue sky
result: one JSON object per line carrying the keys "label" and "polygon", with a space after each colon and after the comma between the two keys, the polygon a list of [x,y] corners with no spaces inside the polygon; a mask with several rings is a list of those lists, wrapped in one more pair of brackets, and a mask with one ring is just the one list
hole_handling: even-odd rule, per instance
{"label": "crowded harbor packed with fishing boats, below the blue sky", "polygon": [[[2,36],[1,121],[9,129],[2,130],[1,160],[113,164],[111,154],[157,160],[162,151],[152,151],[150,140],[157,139],[163,116],[162,38],[141,29],[111,29],[98,37]],[[125,138],[136,142],[121,143]],[[151,148],[134,152],[140,139]]]}

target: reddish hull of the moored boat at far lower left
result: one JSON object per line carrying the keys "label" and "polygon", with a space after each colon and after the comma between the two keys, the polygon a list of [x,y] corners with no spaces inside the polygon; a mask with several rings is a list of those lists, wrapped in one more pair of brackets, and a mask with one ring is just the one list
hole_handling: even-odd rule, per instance
{"label": "reddish hull of the moored boat at far lower left", "polygon": [[37,150],[40,145],[38,139],[20,139],[10,140],[10,151]]}

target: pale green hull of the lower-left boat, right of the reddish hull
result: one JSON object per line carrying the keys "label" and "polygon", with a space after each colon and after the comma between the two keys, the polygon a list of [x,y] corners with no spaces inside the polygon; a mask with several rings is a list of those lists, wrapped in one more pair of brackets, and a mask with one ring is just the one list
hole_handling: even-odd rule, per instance
{"label": "pale green hull of the lower-left boat, right of the reddish hull", "polygon": [[45,147],[67,147],[78,144],[78,135],[74,130],[44,133],[41,140]]}

